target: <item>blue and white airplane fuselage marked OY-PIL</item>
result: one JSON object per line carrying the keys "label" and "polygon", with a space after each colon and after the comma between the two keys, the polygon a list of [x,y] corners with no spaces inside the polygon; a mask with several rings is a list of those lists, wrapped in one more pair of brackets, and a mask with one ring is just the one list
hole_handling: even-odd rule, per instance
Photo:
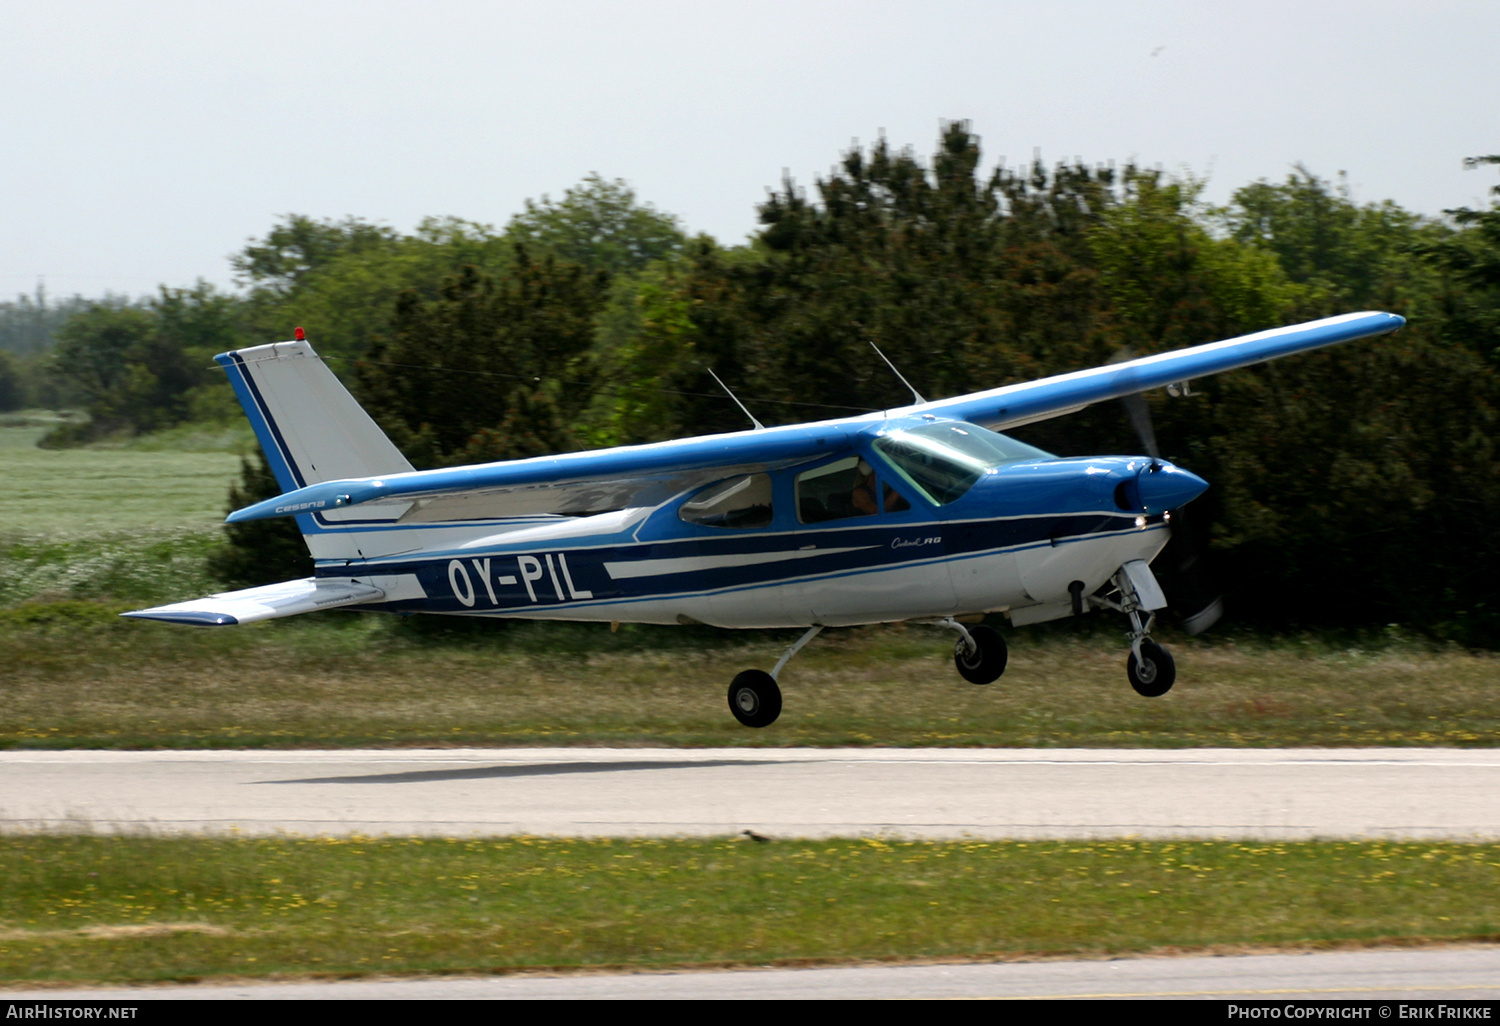
{"label": "blue and white airplane fuselage marked OY-PIL", "polygon": [[1068,615],[1074,580],[1092,592],[1167,542],[1168,507],[1120,508],[1120,484],[1170,477],[1172,506],[1206,488],[1143,458],[1017,460],[934,507],[879,453],[855,453],[906,508],[801,522],[798,478],[844,458],[834,456],[770,472],[772,514],[752,530],[682,518],[710,484],[654,508],[520,520],[480,537],[478,524],[405,528],[424,536],[411,538],[417,552],[322,561],[318,574],[380,578],[410,596],[386,603],[398,612],[836,627],[1004,610],[1029,622]]}

